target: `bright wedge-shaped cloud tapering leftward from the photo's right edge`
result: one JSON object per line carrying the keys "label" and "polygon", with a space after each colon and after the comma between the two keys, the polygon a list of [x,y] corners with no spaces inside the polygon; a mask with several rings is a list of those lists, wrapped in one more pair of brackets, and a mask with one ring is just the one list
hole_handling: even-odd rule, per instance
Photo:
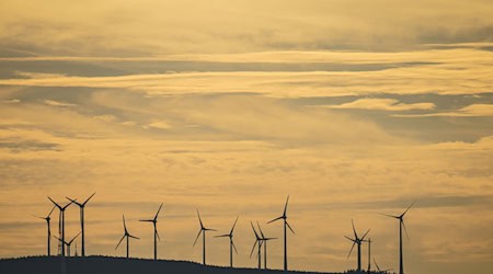
{"label": "bright wedge-shaped cloud tapering leftward from the photo's right edge", "polygon": [[493,116],[493,104],[471,104],[455,112],[426,114],[395,114],[395,117],[489,117]]}

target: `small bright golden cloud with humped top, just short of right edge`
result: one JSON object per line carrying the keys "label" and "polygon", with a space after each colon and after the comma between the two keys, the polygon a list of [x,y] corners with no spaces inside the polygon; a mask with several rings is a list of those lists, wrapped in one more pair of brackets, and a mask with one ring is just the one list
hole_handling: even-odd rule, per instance
{"label": "small bright golden cloud with humped top, just short of right edge", "polygon": [[434,103],[401,103],[395,99],[358,99],[356,101],[340,105],[318,105],[336,110],[370,110],[370,111],[412,111],[412,110],[433,110]]}

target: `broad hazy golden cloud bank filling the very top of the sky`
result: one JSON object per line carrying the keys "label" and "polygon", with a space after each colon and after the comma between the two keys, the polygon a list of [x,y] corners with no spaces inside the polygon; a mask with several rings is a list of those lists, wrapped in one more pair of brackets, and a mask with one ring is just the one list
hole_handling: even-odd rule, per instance
{"label": "broad hazy golden cloud bank filling the very top of the sky", "polygon": [[274,0],[268,4],[221,0],[215,5],[195,3],[196,9],[190,5],[190,1],[144,1],[136,9],[131,1],[101,1],[95,13],[90,7],[50,1],[39,14],[34,3],[7,1],[1,7],[0,41],[4,48],[18,49],[5,50],[10,55],[395,50],[488,41],[492,25],[491,5],[482,0],[467,4],[458,0],[374,4],[364,0]]}

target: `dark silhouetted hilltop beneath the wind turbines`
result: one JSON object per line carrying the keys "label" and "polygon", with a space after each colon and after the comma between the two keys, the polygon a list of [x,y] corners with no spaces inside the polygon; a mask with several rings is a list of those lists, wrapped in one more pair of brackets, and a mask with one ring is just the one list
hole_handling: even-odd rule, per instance
{"label": "dark silhouetted hilltop beneath the wind turbines", "polygon": [[[0,273],[2,274],[254,274],[259,272],[273,274],[285,273],[280,270],[265,271],[256,269],[230,269],[225,266],[205,266],[195,262],[186,261],[153,261],[149,259],[126,259],[114,256],[71,256],[65,259],[60,256],[26,256],[0,260]],[[299,271],[289,271],[287,273],[318,274],[316,272]]]}

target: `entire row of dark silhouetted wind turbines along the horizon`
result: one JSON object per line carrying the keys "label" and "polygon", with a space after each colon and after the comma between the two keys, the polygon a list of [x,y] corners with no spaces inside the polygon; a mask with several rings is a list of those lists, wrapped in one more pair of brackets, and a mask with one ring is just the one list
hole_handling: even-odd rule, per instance
{"label": "entire row of dark silhouetted wind turbines along the horizon", "polygon": [[[79,203],[77,202],[77,199],[72,199],[70,197],[66,197],[68,199],[68,203],[65,205],[60,205],[60,203],[56,203],[54,199],[51,199],[48,196],[48,199],[54,204],[54,207],[51,208],[51,210],[49,212],[49,214],[47,215],[47,217],[38,217],[42,218],[44,220],[46,220],[47,224],[47,230],[48,230],[48,241],[47,241],[47,254],[48,256],[50,256],[50,238],[51,238],[51,230],[50,230],[50,215],[51,213],[55,210],[55,208],[59,209],[59,237],[56,237],[56,239],[58,239],[59,243],[60,243],[60,252],[59,254],[61,256],[66,256],[66,248],[67,248],[67,253],[68,256],[70,256],[70,246],[71,243],[81,235],[82,239],[81,239],[81,256],[85,256],[85,236],[84,236],[84,207],[88,204],[88,202],[95,195],[95,193],[93,193],[92,195],[90,195],[83,203]],[[284,206],[284,210],[283,210],[283,215],[274,218],[272,220],[270,220],[267,224],[271,222],[275,222],[277,220],[283,220],[283,228],[284,228],[284,271],[288,270],[288,253],[287,253],[287,230],[289,229],[294,235],[295,230],[291,228],[291,226],[289,225],[289,222],[287,221],[287,208],[288,208],[288,203],[289,203],[289,195],[286,198],[286,203]],[[72,239],[70,239],[69,241],[65,240],[65,210],[67,209],[67,207],[69,207],[71,204],[74,204],[77,206],[79,206],[80,208],[80,226],[81,226],[81,231],[79,233],[77,233]],[[395,218],[399,220],[399,274],[403,274],[404,273],[404,266],[403,266],[403,250],[402,250],[402,228],[404,228],[405,233],[408,235],[405,225],[404,225],[404,215],[408,213],[408,210],[414,205],[414,203],[412,203],[401,215],[386,215],[382,214],[383,216],[387,217],[391,217],[391,218]],[[159,214],[161,212],[163,204],[161,203],[161,205],[158,208],[158,212],[156,213],[156,215],[153,216],[153,218],[151,219],[140,219],[139,221],[144,221],[144,222],[151,222],[153,226],[153,255],[154,255],[154,260],[158,260],[158,240],[160,240],[160,236],[158,232],[158,228],[157,228],[157,224],[158,224],[158,217]],[[207,228],[200,217],[200,213],[197,209],[197,217],[198,217],[198,221],[199,221],[199,231],[197,237],[195,238],[195,241],[193,243],[193,247],[196,246],[200,235],[203,237],[202,241],[203,241],[203,264],[206,265],[206,232],[207,231],[217,231],[216,229],[213,228]],[[234,252],[238,254],[238,250],[237,247],[234,246],[234,241],[233,241],[233,232],[234,232],[234,228],[237,226],[239,216],[236,218],[229,233],[225,233],[225,235],[218,235],[215,236],[215,238],[229,238],[229,261],[230,261],[230,267],[233,267],[233,250]],[[253,233],[255,236],[255,241],[253,243],[252,247],[252,251],[250,252],[250,258],[252,258],[253,252],[255,251],[255,248],[257,249],[256,252],[256,256],[257,256],[257,267],[262,269],[262,247],[264,248],[264,269],[267,269],[267,242],[270,240],[275,240],[277,238],[272,238],[272,237],[266,237],[264,235],[264,232],[262,231],[262,228],[260,226],[259,222],[256,222],[256,228],[254,226],[254,224],[252,221],[250,221],[250,225],[252,227]],[[121,240],[118,241],[118,243],[115,247],[115,250],[118,249],[118,247],[121,246],[121,243],[123,242],[123,240],[126,239],[126,256],[129,258],[129,239],[139,239],[138,237],[130,235],[128,232],[127,226],[126,226],[126,221],[125,221],[125,215],[123,215],[123,226],[124,226],[124,235],[121,238]],[[349,241],[353,242],[353,246],[351,247],[349,253],[347,254],[347,258],[351,256],[354,247],[357,246],[357,272],[362,273],[362,244],[364,242],[368,243],[368,272],[370,271],[371,264],[370,264],[370,252],[371,252],[371,240],[365,240],[365,237],[369,233],[370,229],[368,229],[362,238],[359,238],[358,233],[356,232],[356,228],[354,226],[354,221],[352,219],[352,226],[353,226],[353,233],[354,233],[354,238],[347,237],[345,236],[346,239],[348,239]],[[409,236],[408,236],[409,238]],[[77,251],[76,251],[77,253]],[[375,265],[377,266],[378,271],[381,273],[387,273],[387,271],[380,271],[380,267],[378,266],[377,262],[375,261]]]}

